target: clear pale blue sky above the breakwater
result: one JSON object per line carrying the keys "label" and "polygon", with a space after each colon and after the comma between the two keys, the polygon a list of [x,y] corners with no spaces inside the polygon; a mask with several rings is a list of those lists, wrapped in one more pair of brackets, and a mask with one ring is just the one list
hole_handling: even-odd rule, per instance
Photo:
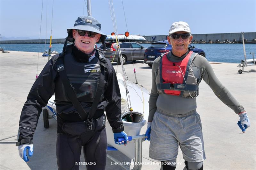
{"label": "clear pale blue sky above the breakwater", "polygon": [[[86,0],[43,1],[41,39],[65,38]],[[192,34],[256,32],[256,0],[114,0],[118,34],[167,35],[171,24],[185,21]],[[46,9],[47,8],[47,9]],[[39,39],[42,0],[0,0],[0,34],[9,39]],[[47,15],[47,29],[46,29]],[[92,16],[106,34],[113,32],[108,0],[92,0]]]}

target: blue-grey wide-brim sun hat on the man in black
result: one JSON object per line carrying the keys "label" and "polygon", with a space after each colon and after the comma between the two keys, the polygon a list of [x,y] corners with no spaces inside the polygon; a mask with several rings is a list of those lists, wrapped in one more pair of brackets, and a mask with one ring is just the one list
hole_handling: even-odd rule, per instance
{"label": "blue-grey wide-brim sun hat on the man in black", "polygon": [[78,17],[77,20],[75,21],[75,24],[72,28],[68,28],[68,40],[69,41],[74,41],[73,35],[72,35],[72,30],[84,30],[84,31],[91,31],[91,32],[96,32],[101,34],[100,39],[106,39],[107,35],[103,32],[100,31],[101,25],[100,23],[93,17],[91,16],[81,16]]}

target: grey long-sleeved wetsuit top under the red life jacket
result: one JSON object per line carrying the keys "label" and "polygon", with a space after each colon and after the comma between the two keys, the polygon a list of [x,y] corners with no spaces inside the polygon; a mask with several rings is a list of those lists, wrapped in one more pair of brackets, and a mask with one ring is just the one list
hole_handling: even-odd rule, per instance
{"label": "grey long-sleeved wetsuit top under the red life jacket", "polygon": [[[187,54],[188,53],[185,53],[183,56],[177,57],[169,52],[167,58],[172,62],[180,62],[187,56]],[[182,96],[167,95],[157,91],[156,84],[160,80],[160,72],[158,71],[159,64],[160,57],[154,61],[152,66],[152,88],[149,97],[148,122],[152,122],[156,109],[165,115],[182,115],[196,110],[196,98],[185,98]],[[214,74],[210,63],[203,56],[199,54],[196,55],[195,60],[192,62],[192,70],[197,70],[197,73],[194,72],[194,74],[199,74],[199,77],[210,86],[214,94],[224,104],[234,110],[236,114],[244,112],[244,107],[240,105],[228,91],[228,89],[221,84],[221,82]]]}

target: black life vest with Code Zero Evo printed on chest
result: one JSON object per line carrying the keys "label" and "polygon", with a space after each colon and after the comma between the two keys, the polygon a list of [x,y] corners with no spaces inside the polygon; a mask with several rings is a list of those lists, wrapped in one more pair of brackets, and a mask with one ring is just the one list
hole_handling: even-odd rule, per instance
{"label": "black life vest with Code Zero Evo printed on chest", "polygon": [[[67,46],[66,52],[61,56],[64,58],[65,70],[70,86],[80,102],[93,102],[100,81],[100,65],[103,65],[105,70],[107,70],[105,56],[96,50],[95,58],[91,62],[77,62],[72,54],[72,47],[73,45]],[[59,57],[55,56],[53,60],[56,61]],[[53,63],[55,63],[54,61]],[[55,87],[55,99],[70,102],[60,78],[56,80]],[[104,94],[101,94],[100,102],[103,99]]]}

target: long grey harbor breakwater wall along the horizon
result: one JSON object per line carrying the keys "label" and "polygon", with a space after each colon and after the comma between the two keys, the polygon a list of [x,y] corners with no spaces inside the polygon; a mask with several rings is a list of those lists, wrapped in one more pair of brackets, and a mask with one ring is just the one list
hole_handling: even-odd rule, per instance
{"label": "long grey harbor breakwater wall along the horizon", "polygon": [[[219,34],[192,34],[193,43],[242,43],[242,35],[237,33],[219,33]],[[167,40],[167,35],[145,35],[146,43]],[[52,39],[52,44],[63,44],[65,39]],[[244,42],[248,44],[256,44],[256,32],[244,32]],[[45,39],[26,39],[26,40],[1,40],[0,44],[44,44]],[[46,43],[50,43],[50,39],[46,39]],[[143,42],[145,43],[145,42]]]}

